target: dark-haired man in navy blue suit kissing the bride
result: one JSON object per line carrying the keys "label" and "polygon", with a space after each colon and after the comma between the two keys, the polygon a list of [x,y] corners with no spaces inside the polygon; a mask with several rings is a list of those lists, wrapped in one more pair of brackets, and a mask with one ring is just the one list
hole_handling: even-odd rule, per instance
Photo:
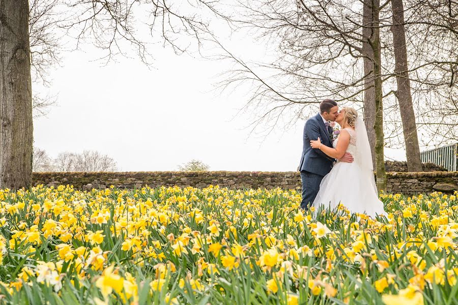
{"label": "dark-haired man in navy blue suit kissing the bride", "polygon": [[[320,149],[311,148],[310,140],[320,138],[323,145],[332,147],[333,138],[330,122],[335,121],[338,111],[339,107],[335,101],[324,100],[320,103],[320,113],[309,118],[305,123],[302,156],[299,164],[302,180],[301,207],[305,210],[317,197],[321,180],[331,171],[335,161],[326,156]],[[353,157],[346,153],[339,161],[353,162]]]}

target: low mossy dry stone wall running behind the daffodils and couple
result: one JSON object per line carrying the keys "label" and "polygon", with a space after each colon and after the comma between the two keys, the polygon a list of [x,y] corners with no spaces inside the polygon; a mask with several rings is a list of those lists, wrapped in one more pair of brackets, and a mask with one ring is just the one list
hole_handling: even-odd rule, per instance
{"label": "low mossy dry stone wall running behind the daffodils and couple", "polygon": [[[387,191],[405,194],[458,190],[458,172],[387,173]],[[77,189],[140,188],[145,185],[192,186],[205,188],[219,185],[231,189],[277,188],[300,189],[299,172],[45,172],[33,173],[34,185],[56,187],[73,185]]]}

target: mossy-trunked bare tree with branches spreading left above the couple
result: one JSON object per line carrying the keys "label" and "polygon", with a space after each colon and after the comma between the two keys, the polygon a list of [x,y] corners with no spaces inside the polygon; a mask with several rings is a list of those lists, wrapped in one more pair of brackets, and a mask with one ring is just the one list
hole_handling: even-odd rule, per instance
{"label": "mossy-trunked bare tree with branches spreading left above the couple", "polygon": [[[310,104],[326,98],[357,103],[355,107],[363,108],[365,117],[372,119],[366,127],[375,156],[377,187],[384,190],[383,81],[386,76],[381,32],[386,26],[380,16],[387,10],[386,5],[381,5],[380,0],[359,3],[350,0],[246,0],[239,5],[244,15],[240,21],[242,26],[259,31],[262,38],[278,38],[279,54],[272,64],[259,65],[273,74],[264,78],[226,51],[239,69],[222,85],[254,83],[250,102],[257,110],[266,107],[267,115],[261,120],[270,120],[272,124],[281,120],[272,117],[290,116],[293,112],[299,118],[303,112],[310,111]],[[367,28],[370,31],[364,31]],[[370,62],[369,71],[363,69],[365,59]],[[371,99],[363,100],[362,94],[369,88],[373,90]]]}

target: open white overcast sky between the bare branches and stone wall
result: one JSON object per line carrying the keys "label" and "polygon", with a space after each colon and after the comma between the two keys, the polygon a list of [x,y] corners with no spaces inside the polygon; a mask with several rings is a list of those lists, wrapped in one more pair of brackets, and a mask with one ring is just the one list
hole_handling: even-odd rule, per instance
{"label": "open white overcast sky between the bare branches and stone wall", "polygon": [[[263,53],[249,39],[228,43]],[[211,170],[296,170],[305,122],[265,140],[249,137],[245,127],[252,117],[236,116],[248,99],[245,92],[213,90],[229,63],[179,56],[157,45],[152,69],[124,57],[102,66],[94,62],[97,50],[83,50],[62,54],[62,67],[50,74],[58,106],[34,120],[34,145],[51,157],[93,149],[115,159],[121,171],[177,170],[191,159]],[[405,160],[403,150],[386,149],[386,156]]]}

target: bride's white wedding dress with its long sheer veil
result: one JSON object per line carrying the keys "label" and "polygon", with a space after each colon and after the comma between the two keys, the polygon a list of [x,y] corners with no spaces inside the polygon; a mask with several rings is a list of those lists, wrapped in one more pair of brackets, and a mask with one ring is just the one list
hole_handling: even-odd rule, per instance
{"label": "bride's white wedding dress with its long sheer veil", "polygon": [[[323,178],[320,191],[312,206],[317,210],[321,205],[334,209],[342,203],[352,213],[366,214],[372,218],[377,215],[387,215],[380,201],[374,179],[372,156],[370,155],[369,141],[365,128],[361,130],[363,120],[358,117],[356,131],[364,133],[361,141],[358,134],[351,128],[344,129],[350,134],[350,144],[347,152],[352,154],[353,163],[337,161],[331,171]],[[334,141],[335,148],[338,138]],[[364,140],[367,143],[364,143]],[[361,146],[361,147],[359,147]],[[369,149],[367,151],[367,149]]]}

